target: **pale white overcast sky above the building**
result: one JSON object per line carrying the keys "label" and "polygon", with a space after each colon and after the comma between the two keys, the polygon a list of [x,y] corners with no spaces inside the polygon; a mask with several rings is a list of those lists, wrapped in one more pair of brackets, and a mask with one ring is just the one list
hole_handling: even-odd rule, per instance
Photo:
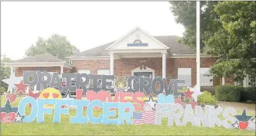
{"label": "pale white overcast sky above the building", "polygon": [[38,37],[61,34],[80,51],[118,40],[139,26],[152,36],[182,36],[168,1],[2,1],[1,54],[22,59]]}

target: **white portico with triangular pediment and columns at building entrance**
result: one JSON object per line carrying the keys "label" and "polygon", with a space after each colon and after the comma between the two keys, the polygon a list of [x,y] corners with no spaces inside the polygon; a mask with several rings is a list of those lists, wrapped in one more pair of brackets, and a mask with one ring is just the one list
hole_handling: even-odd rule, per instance
{"label": "white portico with triangular pediment and columns at building entrance", "polygon": [[[169,56],[168,49],[168,46],[150,36],[144,32],[144,30],[136,27],[134,30],[130,31],[128,34],[106,48],[110,55],[110,75],[115,75],[115,59],[162,57],[162,78],[165,79],[166,58]],[[149,69],[151,68],[149,67]],[[142,69],[141,73],[144,72],[148,71]],[[134,75],[134,72],[132,72],[131,75]],[[155,74],[152,72],[152,77],[154,77],[154,75]]]}

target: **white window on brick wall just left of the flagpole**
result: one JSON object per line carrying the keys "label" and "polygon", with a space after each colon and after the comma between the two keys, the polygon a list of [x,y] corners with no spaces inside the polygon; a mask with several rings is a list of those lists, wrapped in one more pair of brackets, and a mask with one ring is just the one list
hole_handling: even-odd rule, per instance
{"label": "white window on brick wall just left of the flagpole", "polygon": [[178,79],[185,80],[185,85],[191,86],[191,68],[178,68]]}

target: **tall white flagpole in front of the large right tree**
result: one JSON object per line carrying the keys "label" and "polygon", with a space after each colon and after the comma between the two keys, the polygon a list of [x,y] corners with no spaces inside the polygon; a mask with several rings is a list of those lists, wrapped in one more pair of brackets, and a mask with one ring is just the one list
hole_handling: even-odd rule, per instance
{"label": "tall white flagpole in front of the large right tree", "polygon": [[200,1],[196,1],[196,85],[200,92]]}

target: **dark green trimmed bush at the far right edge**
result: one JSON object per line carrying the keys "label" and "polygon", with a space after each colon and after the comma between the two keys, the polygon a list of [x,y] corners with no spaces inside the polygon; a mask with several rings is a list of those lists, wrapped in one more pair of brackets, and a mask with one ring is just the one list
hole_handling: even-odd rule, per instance
{"label": "dark green trimmed bush at the far right edge", "polygon": [[245,87],[241,91],[241,100],[246,102],[247,100],[251,100],[256,102],[256,87]]}

